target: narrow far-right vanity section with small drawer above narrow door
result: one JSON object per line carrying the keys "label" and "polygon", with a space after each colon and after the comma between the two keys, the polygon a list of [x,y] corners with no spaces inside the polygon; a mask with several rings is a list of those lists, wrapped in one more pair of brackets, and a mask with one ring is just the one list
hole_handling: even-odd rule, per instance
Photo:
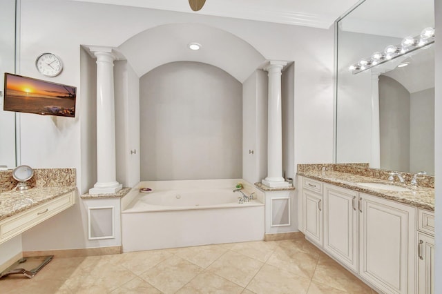
{"label": "narrow far-right vanity section with small drawer above narrow door", "polygon": [[419,294],[434,293],[434,213],[418,210],[417,288]]}

